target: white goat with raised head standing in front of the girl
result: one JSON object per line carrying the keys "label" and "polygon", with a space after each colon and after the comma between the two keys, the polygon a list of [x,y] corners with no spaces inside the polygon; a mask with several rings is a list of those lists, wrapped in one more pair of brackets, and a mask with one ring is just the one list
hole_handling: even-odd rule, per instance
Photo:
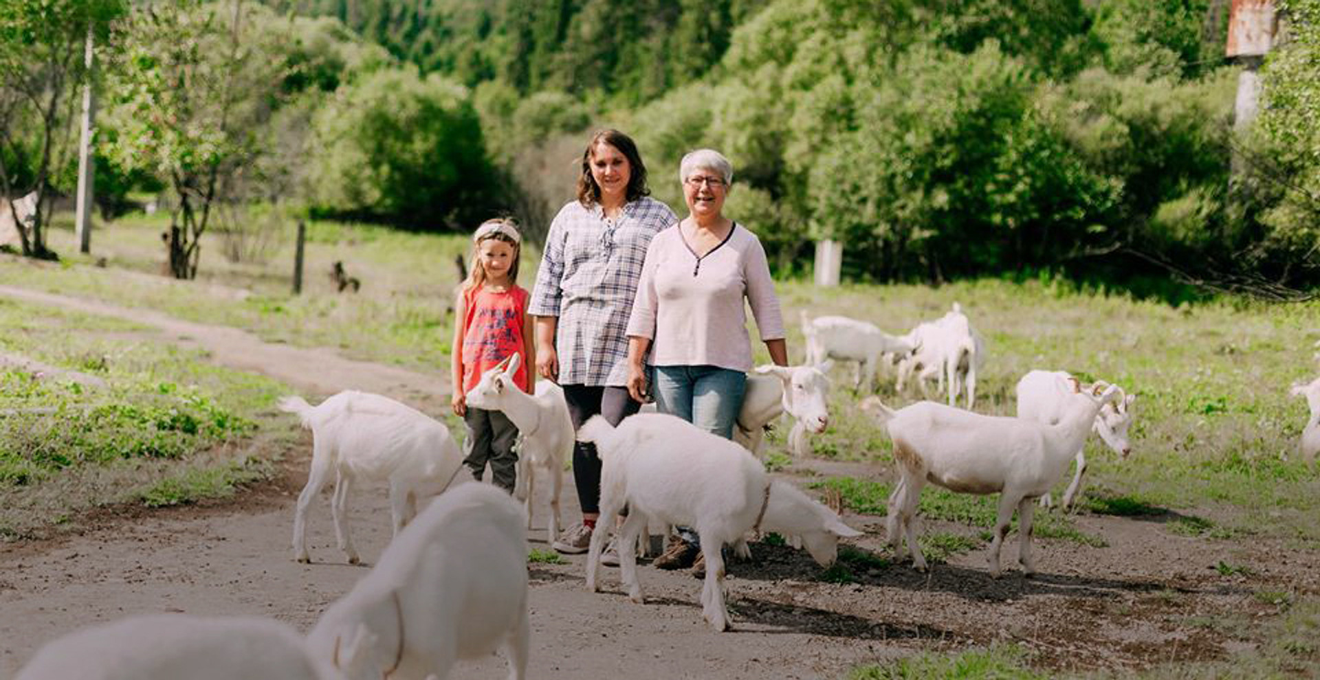
{"label": "white goat with raised head standing in front of the girl", "polygon": [[546,543],[560,535],[560,490],[564,488],[564,461],[573,457],[573,419],[564,401],[564,389],[550,381],[536,381],[536,394],[527,394],[513,383],[517,354],[486,370],[482,380],[467,390],[467,405],[504,415],[517,427],[517,482],[513,496],[527,510],[527,528],[532,528],[532,494],[536,490],[536,468],[550,474],[550,519]]}

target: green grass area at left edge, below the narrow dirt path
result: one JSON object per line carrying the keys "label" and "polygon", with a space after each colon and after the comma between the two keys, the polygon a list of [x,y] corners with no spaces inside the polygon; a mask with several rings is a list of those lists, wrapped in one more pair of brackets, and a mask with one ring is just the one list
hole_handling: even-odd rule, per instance
{"label": "green grass area at left edge, below the narrow dirt path", "polygon": [[280,383],[132,323],[5,299],[0,352],[45,365],[0,368],[0,539],[106,503],[232,494],[269,473],[248,443],[290,430],[272,410]]}

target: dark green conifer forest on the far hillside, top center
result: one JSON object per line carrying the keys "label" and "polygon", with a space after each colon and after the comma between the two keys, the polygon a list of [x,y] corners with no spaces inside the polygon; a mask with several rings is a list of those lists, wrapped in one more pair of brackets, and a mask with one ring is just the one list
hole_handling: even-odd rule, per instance
{"label": "dark green conifer forest on the far hillside, top center", "polygon": [[281,11],[333,16],[424,71],[469,87],[508,83],[638,103],[719,62],[748,0],[272,0]]}

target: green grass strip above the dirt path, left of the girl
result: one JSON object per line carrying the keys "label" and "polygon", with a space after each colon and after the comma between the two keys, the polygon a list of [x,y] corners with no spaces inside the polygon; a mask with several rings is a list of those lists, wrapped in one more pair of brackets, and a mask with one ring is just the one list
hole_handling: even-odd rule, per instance
{"label": "green grass strip above the dirt path, left of the girl", "polygon": [[[265,262],[228,262],[215,233],[202,239],[198,281],[160,277],[160,216],[129,215],[98,229],[94,256],[81,256],[71,223],[55,221],[51,246],[81,266],[0,261],[0,283],[148,307],[207,324],[234,326],[268,341],[331,347],[364,360],[444,372],[449,365],[454,298],[453,260],[467,253],[466,235],[420,235],[363,224],[313,221],[304,293],[292,294],[294,220]],[[86,266],[98,257],[107,268]],[[523,253],[520,282],[531,287],[540,253]],[[334,261],[363,282],[338,294]],[[133,274],[125,274],[129,270]]]}

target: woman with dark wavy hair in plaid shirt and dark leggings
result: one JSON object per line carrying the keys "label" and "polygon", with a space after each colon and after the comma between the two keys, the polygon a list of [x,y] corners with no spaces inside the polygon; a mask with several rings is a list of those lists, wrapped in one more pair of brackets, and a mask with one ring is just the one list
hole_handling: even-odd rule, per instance
{"label": "woman with dark wavy hair in plaid shirt and dark leggings", "polygon": [[[536,370],[564,387],[574,428],[597,414],[616,426],[642,407],[628,395],[624,329],[651,237],[678,221],[649,194],[638,145],[619,130],[601,130],[582,153],[577,200],[560,210],[545,237],[528,307],[536,316]],[[593,444],[574,447],[573,481],[582,523],[565,530],[554,550],[579,553],[601,510]],[[601,561],[618,564],[616,551],[606,550]]]}

